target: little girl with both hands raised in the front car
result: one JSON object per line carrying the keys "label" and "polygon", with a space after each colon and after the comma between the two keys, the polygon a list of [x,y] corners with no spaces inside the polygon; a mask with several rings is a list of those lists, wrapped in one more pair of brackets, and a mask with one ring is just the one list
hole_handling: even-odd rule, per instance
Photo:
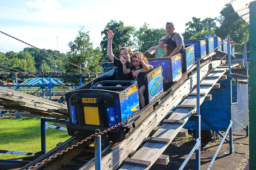
{"label": "little girl with both hands raised in the front car", "polygon": [[[125,65],[125,59],[120,58],[120,61],[123,64],[123,71],[124,74],[129,74],[130,72],[134,72],[136,70],[139,69],[144,69],[146,71],[150,71],[153,70],[153,66],[151,66],[150,64],[148,64],[147,62],[147,58],[144,57],[144,55],[141,52],[136,52],[132,55],[131,57],[132,60],[132,64],[131,66],[127,69],[126,65]],[[138,94],[139,94],[139,103],[140,103],[140,108],[144,108],[145,107],[145,97],[144,94],[146,92],[146,87],[145,87],[145,73],[144,72],[140,72],[138,77],[137,77],[137,84],[138,84]]]}

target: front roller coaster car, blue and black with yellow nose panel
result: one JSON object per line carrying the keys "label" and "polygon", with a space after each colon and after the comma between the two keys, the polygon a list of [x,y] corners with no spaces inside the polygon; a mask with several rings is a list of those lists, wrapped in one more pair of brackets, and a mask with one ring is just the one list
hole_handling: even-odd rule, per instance
{"label": "front roller coaster car, blue and black with yellow nose panel", "polygon": [[[104,131],[139,110],[138,85],[132,80],[114,80],[117,70],[106,74],[68,92],[66,95],[69,123],[68,134],[86,138],[96,129]],[[162,67],[154,68],[145,75],[146,100],[151,102],[163,91]],[[102,87],[97,85],[101,84]],[[116,87],[123,84],[122,87]],[[143,113],[142,113],[143,114]],[[132,121],[138,120],[132,118]],[[102,135],[105,141],[123,141],[131,126],[122,124]]]}

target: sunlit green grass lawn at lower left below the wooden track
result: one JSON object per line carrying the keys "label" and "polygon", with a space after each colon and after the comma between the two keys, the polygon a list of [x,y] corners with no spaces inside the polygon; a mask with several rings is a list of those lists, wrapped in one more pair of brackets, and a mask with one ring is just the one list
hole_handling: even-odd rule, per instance
{"label": "sunlit green grass lawn at lower left below the wooden track", "polygon": [[[0,120],[0,150],[36,153],[41,151],[40,118],[15,118]],[[71,136],[67,131],[46,129],[46,152]],[[0,154],[0,159],[20,158],[25,155]]]}

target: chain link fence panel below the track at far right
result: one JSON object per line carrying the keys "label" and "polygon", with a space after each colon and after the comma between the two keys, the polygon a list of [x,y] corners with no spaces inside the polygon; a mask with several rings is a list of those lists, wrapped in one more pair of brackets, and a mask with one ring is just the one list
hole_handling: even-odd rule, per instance
{"label": "chain link fence panel below the track at far right", "polygon": [[233,134],[248,125],[248,84],[232,85]]}

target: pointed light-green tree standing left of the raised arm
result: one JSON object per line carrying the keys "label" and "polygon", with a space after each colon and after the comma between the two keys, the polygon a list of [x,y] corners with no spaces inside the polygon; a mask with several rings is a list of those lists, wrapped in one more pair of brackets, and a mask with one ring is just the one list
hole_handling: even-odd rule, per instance
{"label": "pointed light-green tree standing left of the raised arm", "polygon": [[[99,48],[93,49],[93,44],[90,43],[89,31],[84,32],[84,27],[81,27],[78,31],[78,36],[74,41],[68,43],[70,51],[67,52],[68,61],[79,66],[81,64],[82,68],[86,68],[92,72],[102,72],[101,66],[98,66],[99,59],[102,56]],[[73,66],[72,64],[65,63],[65,68],[67,72],[79,72],[79,68]],[[81,72],[88,72],[86,70],[81,70]],[[78,84],[79,79],[64,79],[64,82]],[[83,83],[86,83],[83,80]]]}

